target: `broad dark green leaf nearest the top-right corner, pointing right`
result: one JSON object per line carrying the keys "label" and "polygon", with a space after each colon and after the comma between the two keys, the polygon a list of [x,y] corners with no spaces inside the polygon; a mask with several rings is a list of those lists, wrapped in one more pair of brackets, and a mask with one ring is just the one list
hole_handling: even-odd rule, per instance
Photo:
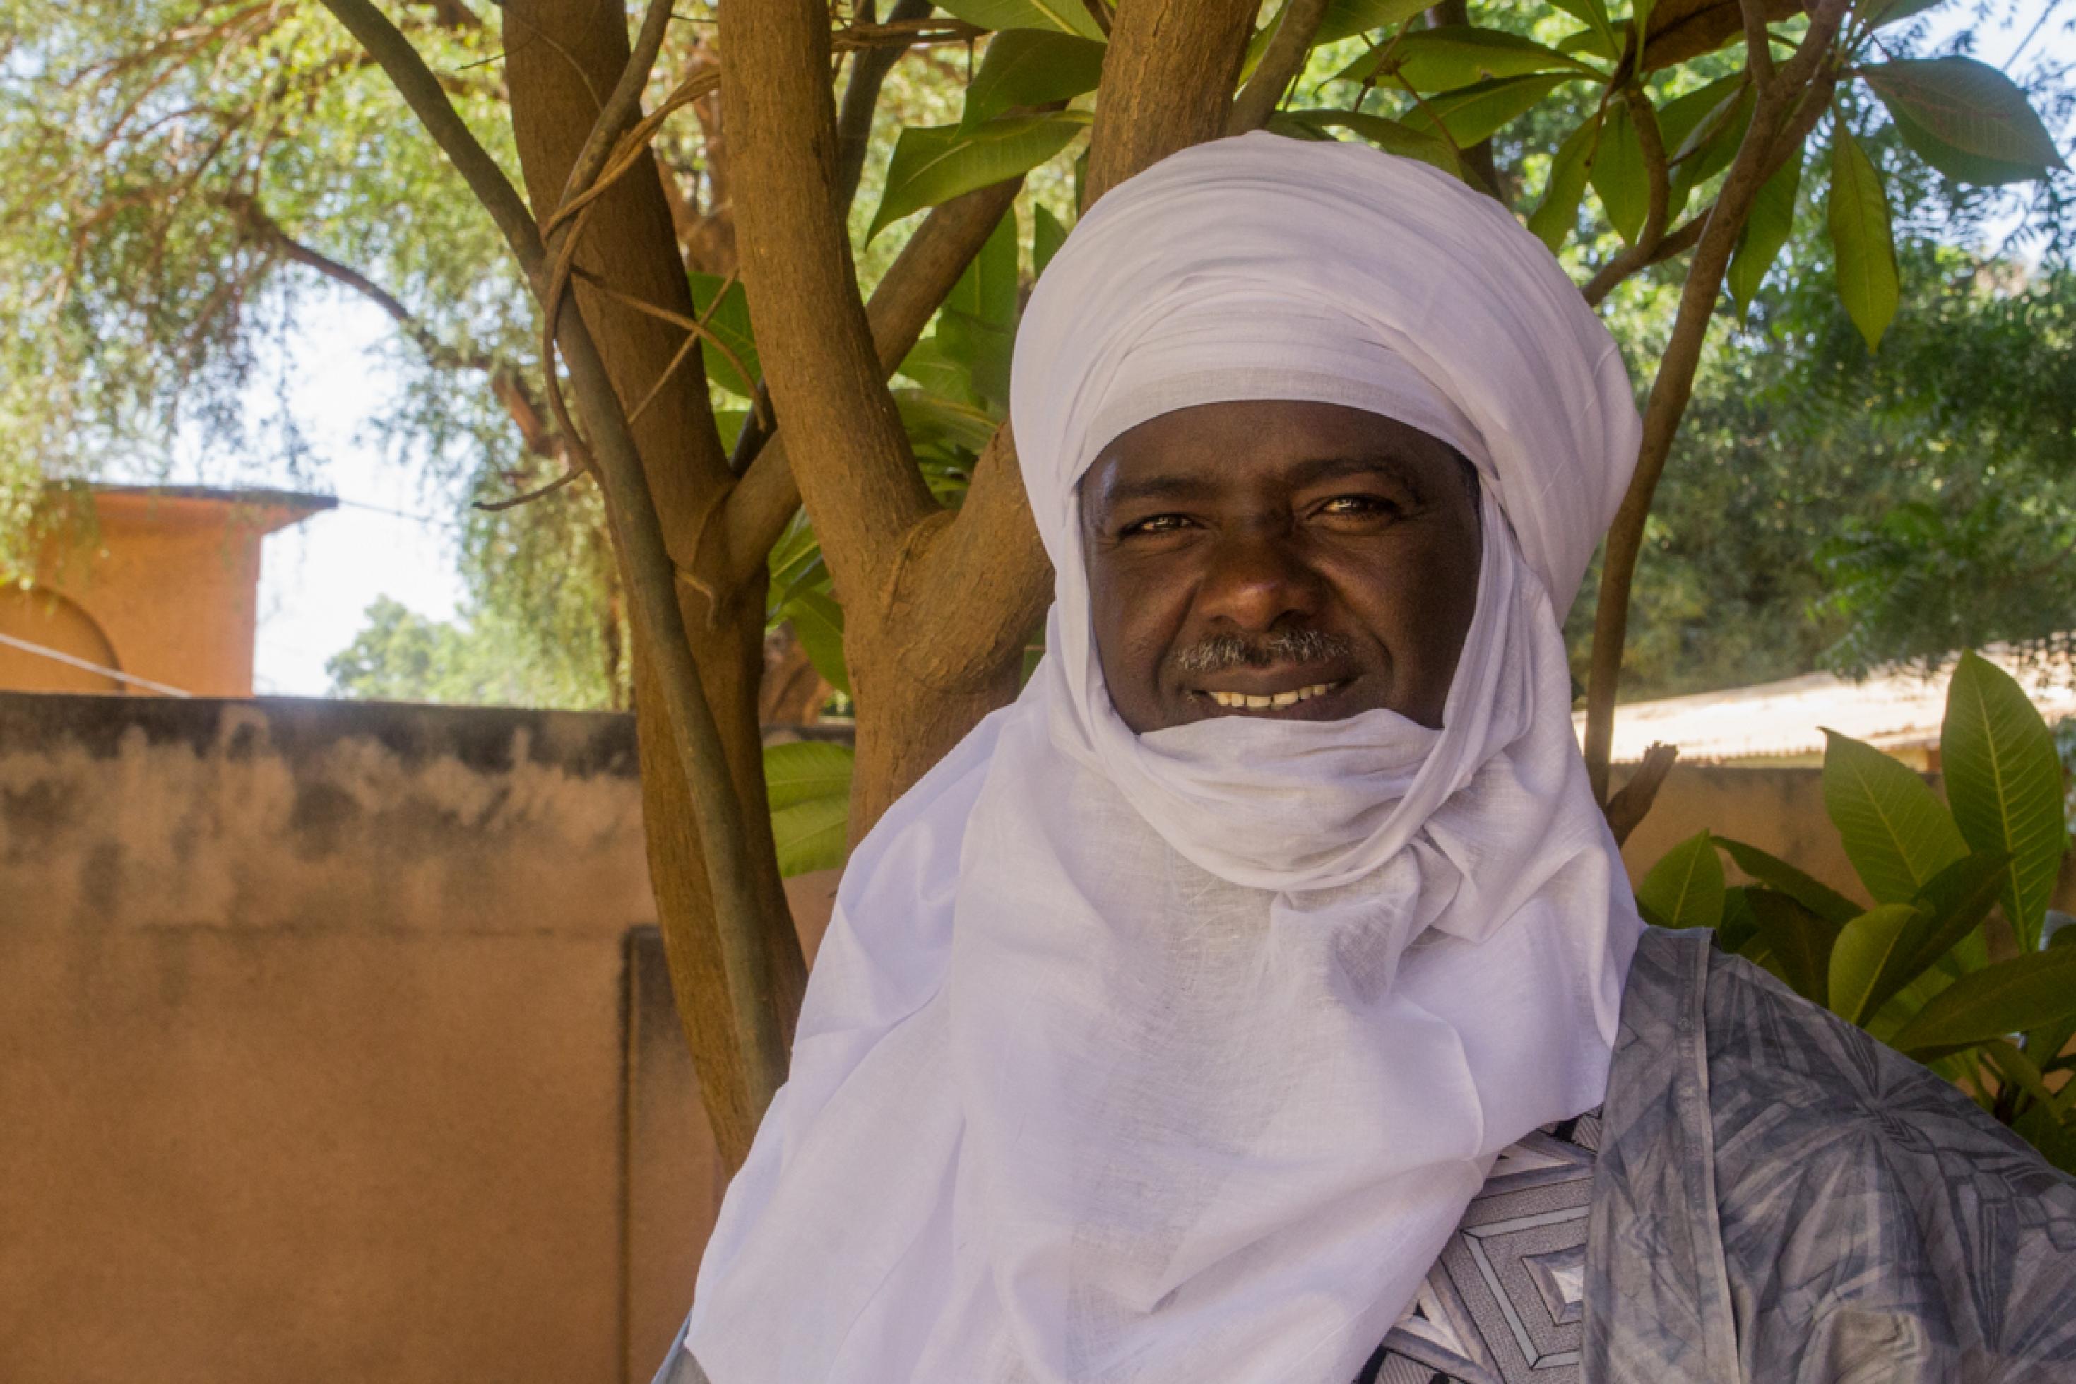
{"label": "broad dark green leaf nearest the top-right corner, pointing right", "polygon": [[2068,166],[2026,93],[1987,62],[1912,58],[1864,66],[1860,77],[1918,158],[1949,178],[2018,183]]}

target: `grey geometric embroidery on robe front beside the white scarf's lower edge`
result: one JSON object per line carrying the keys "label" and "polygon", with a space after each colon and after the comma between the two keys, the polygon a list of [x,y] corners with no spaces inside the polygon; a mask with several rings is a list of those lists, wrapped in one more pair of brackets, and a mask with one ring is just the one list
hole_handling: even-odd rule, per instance
{"label": "grey geometric embroidery on robe front beside the white scarf's lower edge", "polygon": [[1356,1384],[1576,1384],[1599,1145],[1594,1110],[1505,1150]]}

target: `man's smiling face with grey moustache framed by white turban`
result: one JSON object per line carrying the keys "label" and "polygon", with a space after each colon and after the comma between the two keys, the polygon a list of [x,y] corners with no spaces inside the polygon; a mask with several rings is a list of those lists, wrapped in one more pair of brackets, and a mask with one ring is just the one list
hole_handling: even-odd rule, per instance
{"label": "man's smiling face with grey moustache framed by white turban", "polygon": [[1478,593],[1457,452],[1322,403],[1177,409],[1082,477],[1096,656],[1144,735],[1210,716],[1441,726]]}

